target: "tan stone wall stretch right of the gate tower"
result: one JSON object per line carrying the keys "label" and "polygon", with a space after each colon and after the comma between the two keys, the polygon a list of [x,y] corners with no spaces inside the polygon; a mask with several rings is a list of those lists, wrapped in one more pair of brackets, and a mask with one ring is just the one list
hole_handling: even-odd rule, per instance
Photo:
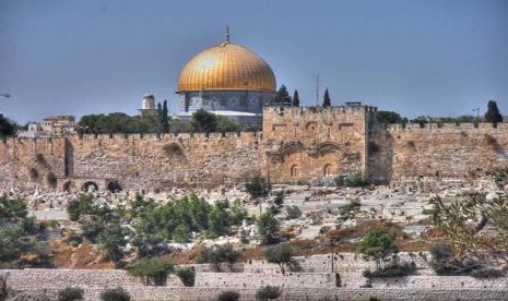
{"label": "tan stone wall stretch right of the gate tower", "polygon": [[411,124],[405,129],[393,124],[378,133],[376,141],[381,147],[392,147],[391,154],[379,156],[385,162],[376,161],[380,166],[391,161],[387,178],[393,184],[424,177],[471,182],[508,164],[508,123],[496,128],[492,123]]}

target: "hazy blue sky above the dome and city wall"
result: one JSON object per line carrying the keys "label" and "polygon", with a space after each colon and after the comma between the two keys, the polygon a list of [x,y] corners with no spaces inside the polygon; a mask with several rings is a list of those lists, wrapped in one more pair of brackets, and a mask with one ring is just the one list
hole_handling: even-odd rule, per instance
{"label": "hazy blue sky above the dome and city wall", "polygon": [[0,93],[12,94],[0,111],[135,113],[147,91],[176,103],[181,68],[226,25],[304,105],[319,74],[333,105],[457,116],[493,98],[508,112],[508,0],[0,0]]}

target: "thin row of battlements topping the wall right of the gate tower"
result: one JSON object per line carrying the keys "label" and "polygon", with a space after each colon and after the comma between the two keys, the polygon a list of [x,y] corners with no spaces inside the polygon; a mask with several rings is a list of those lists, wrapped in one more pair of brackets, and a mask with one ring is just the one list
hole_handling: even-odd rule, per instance
{"label": "thin row of battlements topping the wall right of the gate tower", "polygon": [[508,123],[497,123],[493,124],[491,122],[466,122],[466,123],[392,123],[388,124],[386,128],[390,132],[397,131],[433,131],[433,132],[449,132],[450,130],[457,131],[491,131],[491,132],[499,132],[499,131],[508,131]]}

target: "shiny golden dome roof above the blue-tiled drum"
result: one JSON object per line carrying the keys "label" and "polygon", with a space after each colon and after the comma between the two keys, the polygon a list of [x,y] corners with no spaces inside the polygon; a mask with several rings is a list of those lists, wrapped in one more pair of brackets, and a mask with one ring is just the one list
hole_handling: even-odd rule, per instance
{"label": "shiny golden dome roof above the blue-tiled drum", "polygon": [[270,65],[255,52],[228,41],[205,49],[184,67],[177,93],[191,91],[275,92]]}

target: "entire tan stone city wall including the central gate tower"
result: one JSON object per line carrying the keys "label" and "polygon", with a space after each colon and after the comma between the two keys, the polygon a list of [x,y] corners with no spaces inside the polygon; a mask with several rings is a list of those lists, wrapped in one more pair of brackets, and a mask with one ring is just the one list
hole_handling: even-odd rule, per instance
{"label": "entire tan stone city wall including the central gate tower", "polygon": [[363,173],[380,184],[471,182],[508,162],[508,124],[390,124],[376,108],[265,107],[261,133],[114,134],[0,142],[0,189],[170,191],[319,183]]}

